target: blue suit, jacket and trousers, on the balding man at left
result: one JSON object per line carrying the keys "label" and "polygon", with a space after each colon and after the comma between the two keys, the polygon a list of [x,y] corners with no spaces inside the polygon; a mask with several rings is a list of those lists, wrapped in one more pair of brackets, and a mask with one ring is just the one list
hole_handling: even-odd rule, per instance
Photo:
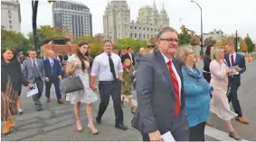
{"label": "blue suit, jacket and trousers, on the balding man at left", "polygon": [[50,89],[52,86],[52,83],[55,87],[55,93],[57,96],[57,99],[62,99],[62,94],[60,91],[60,80],[58,78],[59,75],[62,75],[62,67],[60,65],[59,60],[53,59],[53,67],[51,66],[50,59],[46,58],[43,61],[44,64],[44,70],[45,70],[45,77],[49,78],[49,82],[45,82],[45,95],[47,98],[50,97]]}

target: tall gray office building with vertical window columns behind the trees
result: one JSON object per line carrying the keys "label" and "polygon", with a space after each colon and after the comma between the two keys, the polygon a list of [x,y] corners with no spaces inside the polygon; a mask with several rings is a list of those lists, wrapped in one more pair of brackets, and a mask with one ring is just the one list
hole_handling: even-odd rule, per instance
{"label": "tall gray office building with vertical window columns behind the trees", "polygon": [[53,25],[61,27],[76,38],[92,36],[90,9],[80,2],[56,1],[52,5]]}

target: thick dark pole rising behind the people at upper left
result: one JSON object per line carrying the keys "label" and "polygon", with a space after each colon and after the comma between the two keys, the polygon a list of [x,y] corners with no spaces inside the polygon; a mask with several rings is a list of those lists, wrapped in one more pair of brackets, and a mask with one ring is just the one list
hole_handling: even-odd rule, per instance
{"label": "thick dark pole rising behind the people at upper left", "polygon": [[39,56],[39,49],[37,45],[37,33],[36,33],[36,17],[37,17],[37,7],[38,7],[38,0],[32,0],[32,27],[33,27],[33,47]]}

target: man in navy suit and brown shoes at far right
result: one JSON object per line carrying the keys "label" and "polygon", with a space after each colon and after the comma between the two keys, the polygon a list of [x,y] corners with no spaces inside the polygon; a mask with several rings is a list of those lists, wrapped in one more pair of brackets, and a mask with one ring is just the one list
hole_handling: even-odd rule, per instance
{"label": "man in navy suit and brown shoes at far right", "polygon": [[239,71],[239,74],[229,77],[229,81],[231,82],[231,92],[229,93],[228,98],[229,101],[232,102],[233,110],[238,114],[236,120],[243,124],[248,124],[249,121],[242,118],[242,109],[237,97],[237,90],[241,85],[241,74],[246,71],[245,59],[241,54],[235,52],[234,44],[232,42],[226,43],[225,50],[227,52],[227,54],[225,54],[225,60],[228,67],[238,66],[237,69]]}

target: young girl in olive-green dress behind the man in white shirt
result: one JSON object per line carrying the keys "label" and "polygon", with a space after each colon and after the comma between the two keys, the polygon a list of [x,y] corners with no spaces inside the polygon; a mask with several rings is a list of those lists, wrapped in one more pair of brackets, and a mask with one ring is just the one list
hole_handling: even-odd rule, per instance
{"label": "young girl in olive-green dress behind the man in white shirt", "polygon": [[136,109],[131,102],[132,98],[132,84],[133,84],[133,69],[134,67],[131,65],[131,61],[129,58],[125,59],[123,64],[123,80],[122,80],[122,108],[125,108],[124,100],[128,98],[128,104],[130,107],[131,113],[135,113]]}

